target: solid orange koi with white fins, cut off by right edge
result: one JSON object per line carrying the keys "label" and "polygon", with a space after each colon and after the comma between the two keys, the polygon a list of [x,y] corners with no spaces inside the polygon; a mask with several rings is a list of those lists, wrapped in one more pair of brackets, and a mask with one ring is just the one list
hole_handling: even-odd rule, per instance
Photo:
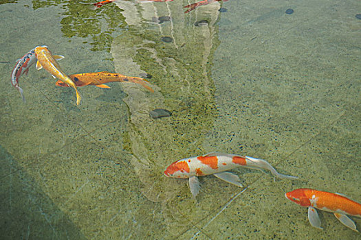
{"label": "solid orange koi with white fins, cut off by right edge", "polygon": [[340,193],[328,193],[315,189],[296,189],[285,193],[285,197],[300,206],[308,207],[308,220],[311,226],[321,228],[317,209],[333,213],[344,226],[358,232],[355,223],[347,215],[361,217],[361,204],[349,200]]}

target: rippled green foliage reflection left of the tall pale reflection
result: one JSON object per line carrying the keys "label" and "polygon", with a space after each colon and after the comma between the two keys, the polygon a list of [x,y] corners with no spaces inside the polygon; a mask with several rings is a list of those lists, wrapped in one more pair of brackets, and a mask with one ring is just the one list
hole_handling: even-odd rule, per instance
{"label": "rippled green foliage reflection left of the tall pale reflection", "polygon": [[[94,2],[96,0],[89,1],[89,3]],[[107,8],[100,8],[100,10],[91,10],[91,4],[80,3],[80,1],[33,0],[32,4],[34,10],[62,4],[65,17],[61,19],[61,32],[68,38],[91,36],[93,42],[90,45],[93,46],[91,48],[93,51],[110,51],[113,33],[126,25],[124,17],[120,14],[121,10],[115,4],[110,4]]]}

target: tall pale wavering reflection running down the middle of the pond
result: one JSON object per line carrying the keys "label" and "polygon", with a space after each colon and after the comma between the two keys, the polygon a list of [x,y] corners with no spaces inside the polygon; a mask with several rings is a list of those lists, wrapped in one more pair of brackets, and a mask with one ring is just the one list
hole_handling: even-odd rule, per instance
{"label": "tall pale wavering reflection running down the middle of the pond", "polygon": [[[169,231],[179,235],[189,221],[200,221],[220,204],[202,199],[196,207],[186,181],[168,179],[163,173],[174,160],[205,152],[201,143],[216,115],[210,67],[219,45],[215,26],[219,4],[205,6],[197,16],[179,14],[184,10],[182,2],[133,5],[121,1],[116,5],[124,10],[129,25],[129,31],[111,46],[116,71],[149,73],[155,88],[149,94],[124,86],[131,123],[126,138],[130,144],[124,145],[131,146],[131,163],[143,183],[142,193],[153,202],[162,202]],[[169,21],[154,23],[154,19]],[[201,20],[208,24],[195,25]],[[144,23],[149,27],[144,28]],[[153,120],[149,112],[155,108],[171,110],[173,115]]]}

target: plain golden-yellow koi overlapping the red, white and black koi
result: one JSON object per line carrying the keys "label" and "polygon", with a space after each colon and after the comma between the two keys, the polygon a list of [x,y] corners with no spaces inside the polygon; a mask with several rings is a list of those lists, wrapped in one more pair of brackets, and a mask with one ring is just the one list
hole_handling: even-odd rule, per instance
{"label": "plain golden-yellow koi overlapping the red, white and black koi", "polygon": [[38,59],[36,62],[36,69],[40,70],[44,68],[46,71],[52,74],[54,78],[58,78],[69,86],[72,86],[76,92],[76,104],[79,105],[81,97],[78,89],[76,89],[76,85],[70,79],[70,77],[61,70],[58,62],[56,62],[56,60],[61,60],[64,57],[52,55],[50,50],[47,49],[47,46],[35,47],[35,56]]}

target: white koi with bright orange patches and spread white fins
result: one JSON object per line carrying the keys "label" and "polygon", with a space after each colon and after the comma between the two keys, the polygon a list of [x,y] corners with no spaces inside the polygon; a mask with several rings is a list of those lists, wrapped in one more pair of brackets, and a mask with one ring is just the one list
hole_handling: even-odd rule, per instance
{"label": "white koi with bright orange patches and spread white fins", "polygon": [[193,197],[200,191],[199,180],[197,177],[213,174],[215,177],[243,187],[239,177],[228,170],[236,167],[248,167],[251,169],[266,169],[278,178],[296,179],[294,176],[287,176],[278,173],[274,167],[267,161],[250,156],[239,156],[235,154],[210,153],[204,156],[193,156],[175,161],[169,165],[164,174],[169,178],[189,178],[189,188]]}

